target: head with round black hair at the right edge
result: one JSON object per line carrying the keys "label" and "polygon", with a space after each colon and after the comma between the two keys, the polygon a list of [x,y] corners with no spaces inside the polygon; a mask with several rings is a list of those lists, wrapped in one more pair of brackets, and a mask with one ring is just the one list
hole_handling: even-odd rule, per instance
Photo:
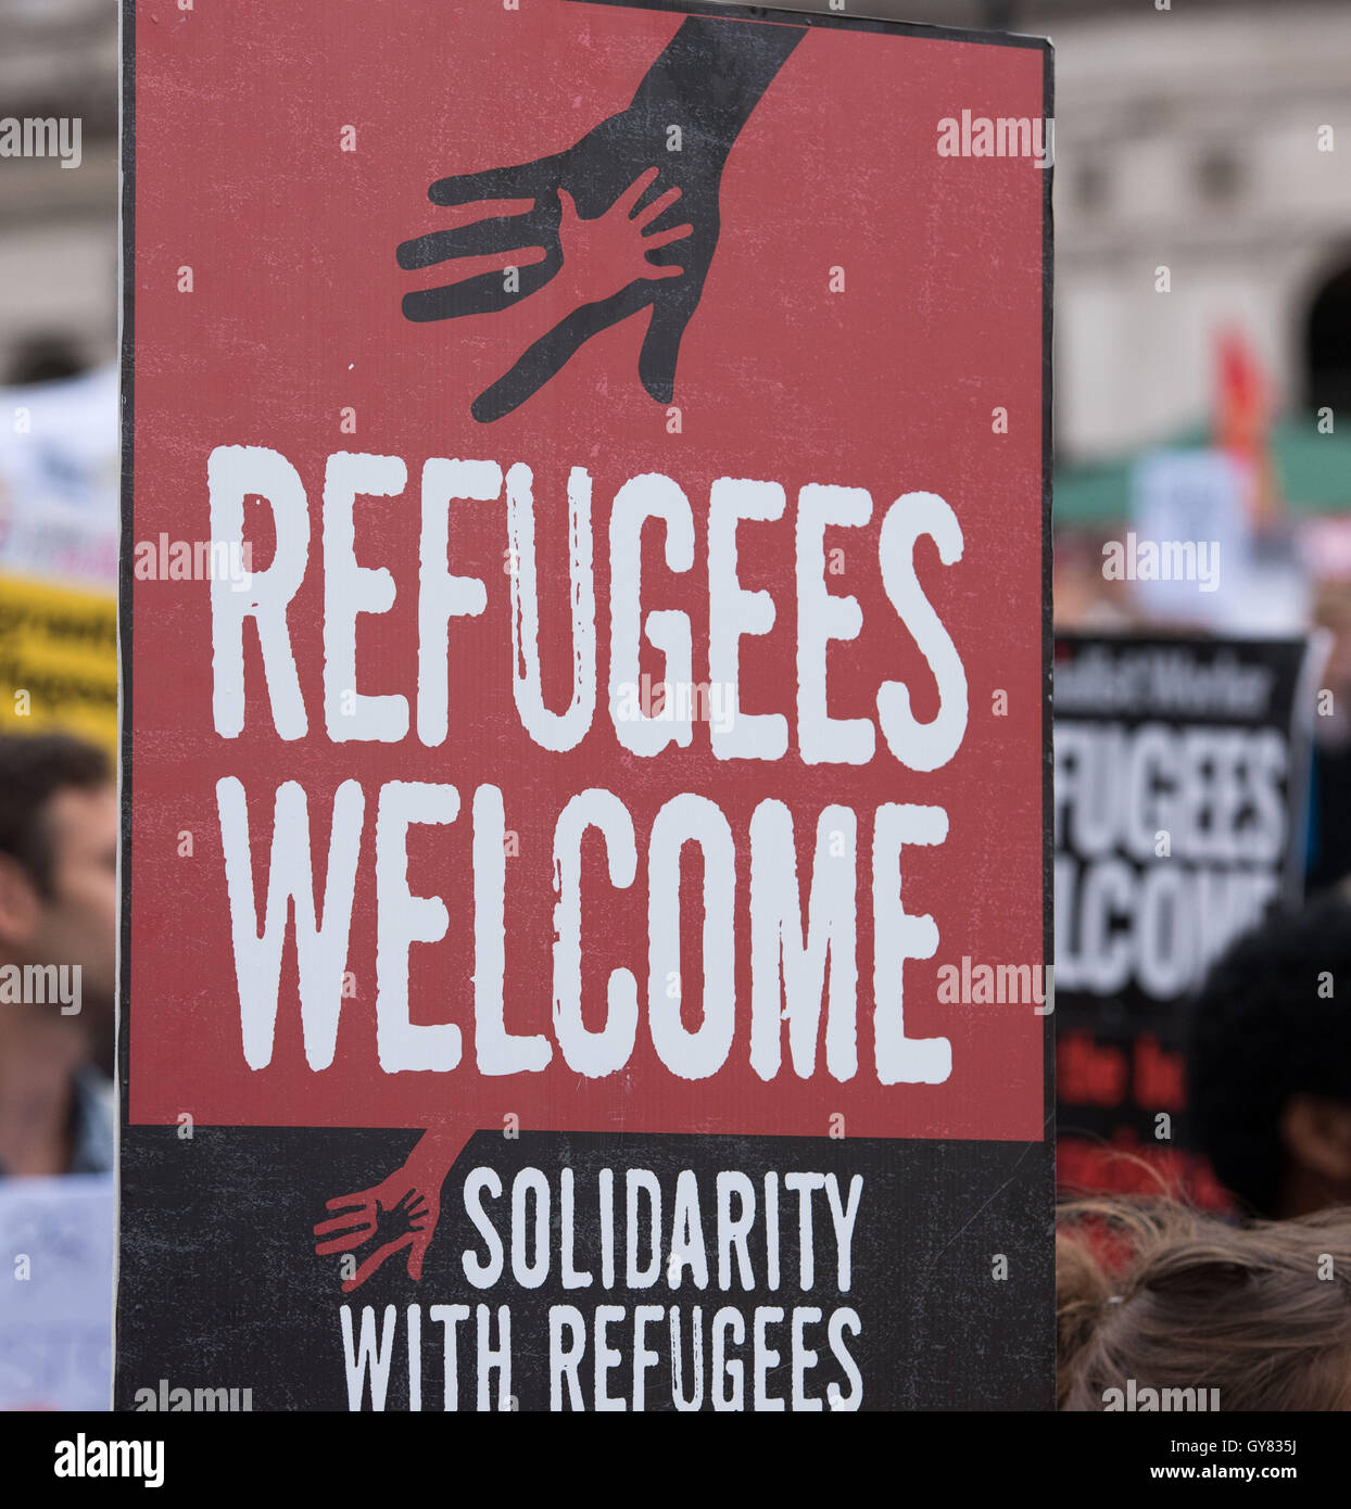
{"label": "head with round black hair at the right edge", "polygon": [[1260,1216],[1351,1201],[1351,901],[1276,911],[1215,963],[1193,1002],[1188,1114],[1199,1145]]}

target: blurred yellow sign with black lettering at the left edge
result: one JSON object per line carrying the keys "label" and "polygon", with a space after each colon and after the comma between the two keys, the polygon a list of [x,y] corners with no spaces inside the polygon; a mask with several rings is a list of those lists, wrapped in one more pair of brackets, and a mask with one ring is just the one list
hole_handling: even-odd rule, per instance
{"label": "blurred yellow sign with black lettering at the left edge", "polygon": [[0,730],[63,729],[118,754],[118,599],[0,573]]}

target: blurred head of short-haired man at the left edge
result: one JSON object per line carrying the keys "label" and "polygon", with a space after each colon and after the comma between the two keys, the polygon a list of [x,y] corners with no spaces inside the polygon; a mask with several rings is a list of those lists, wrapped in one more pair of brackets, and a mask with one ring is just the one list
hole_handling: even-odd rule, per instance
{"label": "blurred head of short-haired man at the left edge", "polygon": [[78,964],[82,1025],[106,1061],[116,863],[118,801],[103,750],[60,733],[0,735],[0,964]]}

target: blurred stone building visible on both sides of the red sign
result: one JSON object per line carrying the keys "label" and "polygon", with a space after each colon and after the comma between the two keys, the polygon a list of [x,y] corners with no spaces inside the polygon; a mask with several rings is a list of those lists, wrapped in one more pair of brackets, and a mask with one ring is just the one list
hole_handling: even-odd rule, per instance
{"label": "blurred stone building visible on both sides of the red sign", "polygon": [[[1063,460],[1205,421],[1223,329],[1251,343],[1279,409],[1351,404],[1345,0],[845,3],[1055,41]],[[83,122],[78,171],[0,163],[0,383],[50,371],[62,344],[83,364],[113,355],[116,45],[116,0],[0,0],[5,113]]]}

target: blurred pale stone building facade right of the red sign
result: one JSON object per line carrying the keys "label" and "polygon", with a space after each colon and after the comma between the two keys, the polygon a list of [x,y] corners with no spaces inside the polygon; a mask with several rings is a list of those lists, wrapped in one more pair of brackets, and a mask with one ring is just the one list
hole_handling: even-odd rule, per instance
{"label": "blurred pale stone building facade right of the red sign", "polygon": [[1055,27],[1061,454],[1206,421],[1224,330],[1277,410],[1351,400],[1351,6],[1094,11]]}

